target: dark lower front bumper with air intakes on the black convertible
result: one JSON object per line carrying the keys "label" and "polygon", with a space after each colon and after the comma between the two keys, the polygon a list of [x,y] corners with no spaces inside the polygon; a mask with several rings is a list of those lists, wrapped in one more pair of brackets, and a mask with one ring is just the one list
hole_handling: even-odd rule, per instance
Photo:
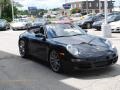
{"label": "dark lower front bumper with air intakes on the black convertible", "polygon": [[[81,69],[92,69],[92,68],[102,68],[102,67],[106,67],[109,65],[112,65],[114,63],[117,62],[117,58],[116,55],[114,55],[114,58],[111,57],[106,57],[103,58],[101,57],[101,59],[99,58],[99,60],[96,59],[89,59],[87,61],[81,61],[80,63],[77,63],[77,67],[81,68]],[[76,64],[75,64],[76,65]]]}

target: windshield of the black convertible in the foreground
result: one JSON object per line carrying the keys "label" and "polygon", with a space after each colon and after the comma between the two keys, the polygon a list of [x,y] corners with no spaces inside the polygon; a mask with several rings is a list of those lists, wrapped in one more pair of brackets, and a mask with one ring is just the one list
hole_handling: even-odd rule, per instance
{"label": "windshield of the black convertible in the foreground", "polygon": [[72,24],[50,24],[47,25],[47,33],[49,37],[68,37],[86,34],[81,28]]}

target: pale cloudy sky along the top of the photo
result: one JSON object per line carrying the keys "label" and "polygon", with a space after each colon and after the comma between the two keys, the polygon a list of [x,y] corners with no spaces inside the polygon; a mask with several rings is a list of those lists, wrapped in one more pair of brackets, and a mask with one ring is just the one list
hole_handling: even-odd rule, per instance
{"label": "pale cloudy sky along the top of the photo", "polygon": [[[55,7],[62,7],[62,4],[65,3],[65,0],[14,0],[22,4],[23,9],[27,9],[29,6],[35,6],[37,8],[50,9]],[[81,1],[81,0],[66,0],[67,2]],[[82,0],[83,1],[83,0]],[[114,0],[115,5],[119,5],[119,0]]]}

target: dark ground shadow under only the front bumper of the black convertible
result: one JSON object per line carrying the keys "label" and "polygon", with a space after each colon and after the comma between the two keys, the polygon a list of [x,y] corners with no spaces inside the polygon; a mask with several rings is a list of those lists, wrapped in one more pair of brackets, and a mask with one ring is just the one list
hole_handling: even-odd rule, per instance
{"label": "dark ground shadow under only the front bumper of the black convertible", "polygon": [[65,75],[69,77],[81,78],[81,79],[111,78],[120,75],[120,65],[115,64],[113,66],[99,70],[74,71],[74,72],[69,72]]}

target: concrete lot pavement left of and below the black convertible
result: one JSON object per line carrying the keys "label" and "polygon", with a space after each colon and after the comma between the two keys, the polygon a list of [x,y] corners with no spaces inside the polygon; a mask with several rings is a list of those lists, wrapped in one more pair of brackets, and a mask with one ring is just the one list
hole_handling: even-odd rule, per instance
{"label": "concrete lot pavement left of and below the black convertible", "polygon": [[119,61],[104,70],[57,74],[39,60],[20,57],[22,32],[0,32],[0,90],[120,90]]}

